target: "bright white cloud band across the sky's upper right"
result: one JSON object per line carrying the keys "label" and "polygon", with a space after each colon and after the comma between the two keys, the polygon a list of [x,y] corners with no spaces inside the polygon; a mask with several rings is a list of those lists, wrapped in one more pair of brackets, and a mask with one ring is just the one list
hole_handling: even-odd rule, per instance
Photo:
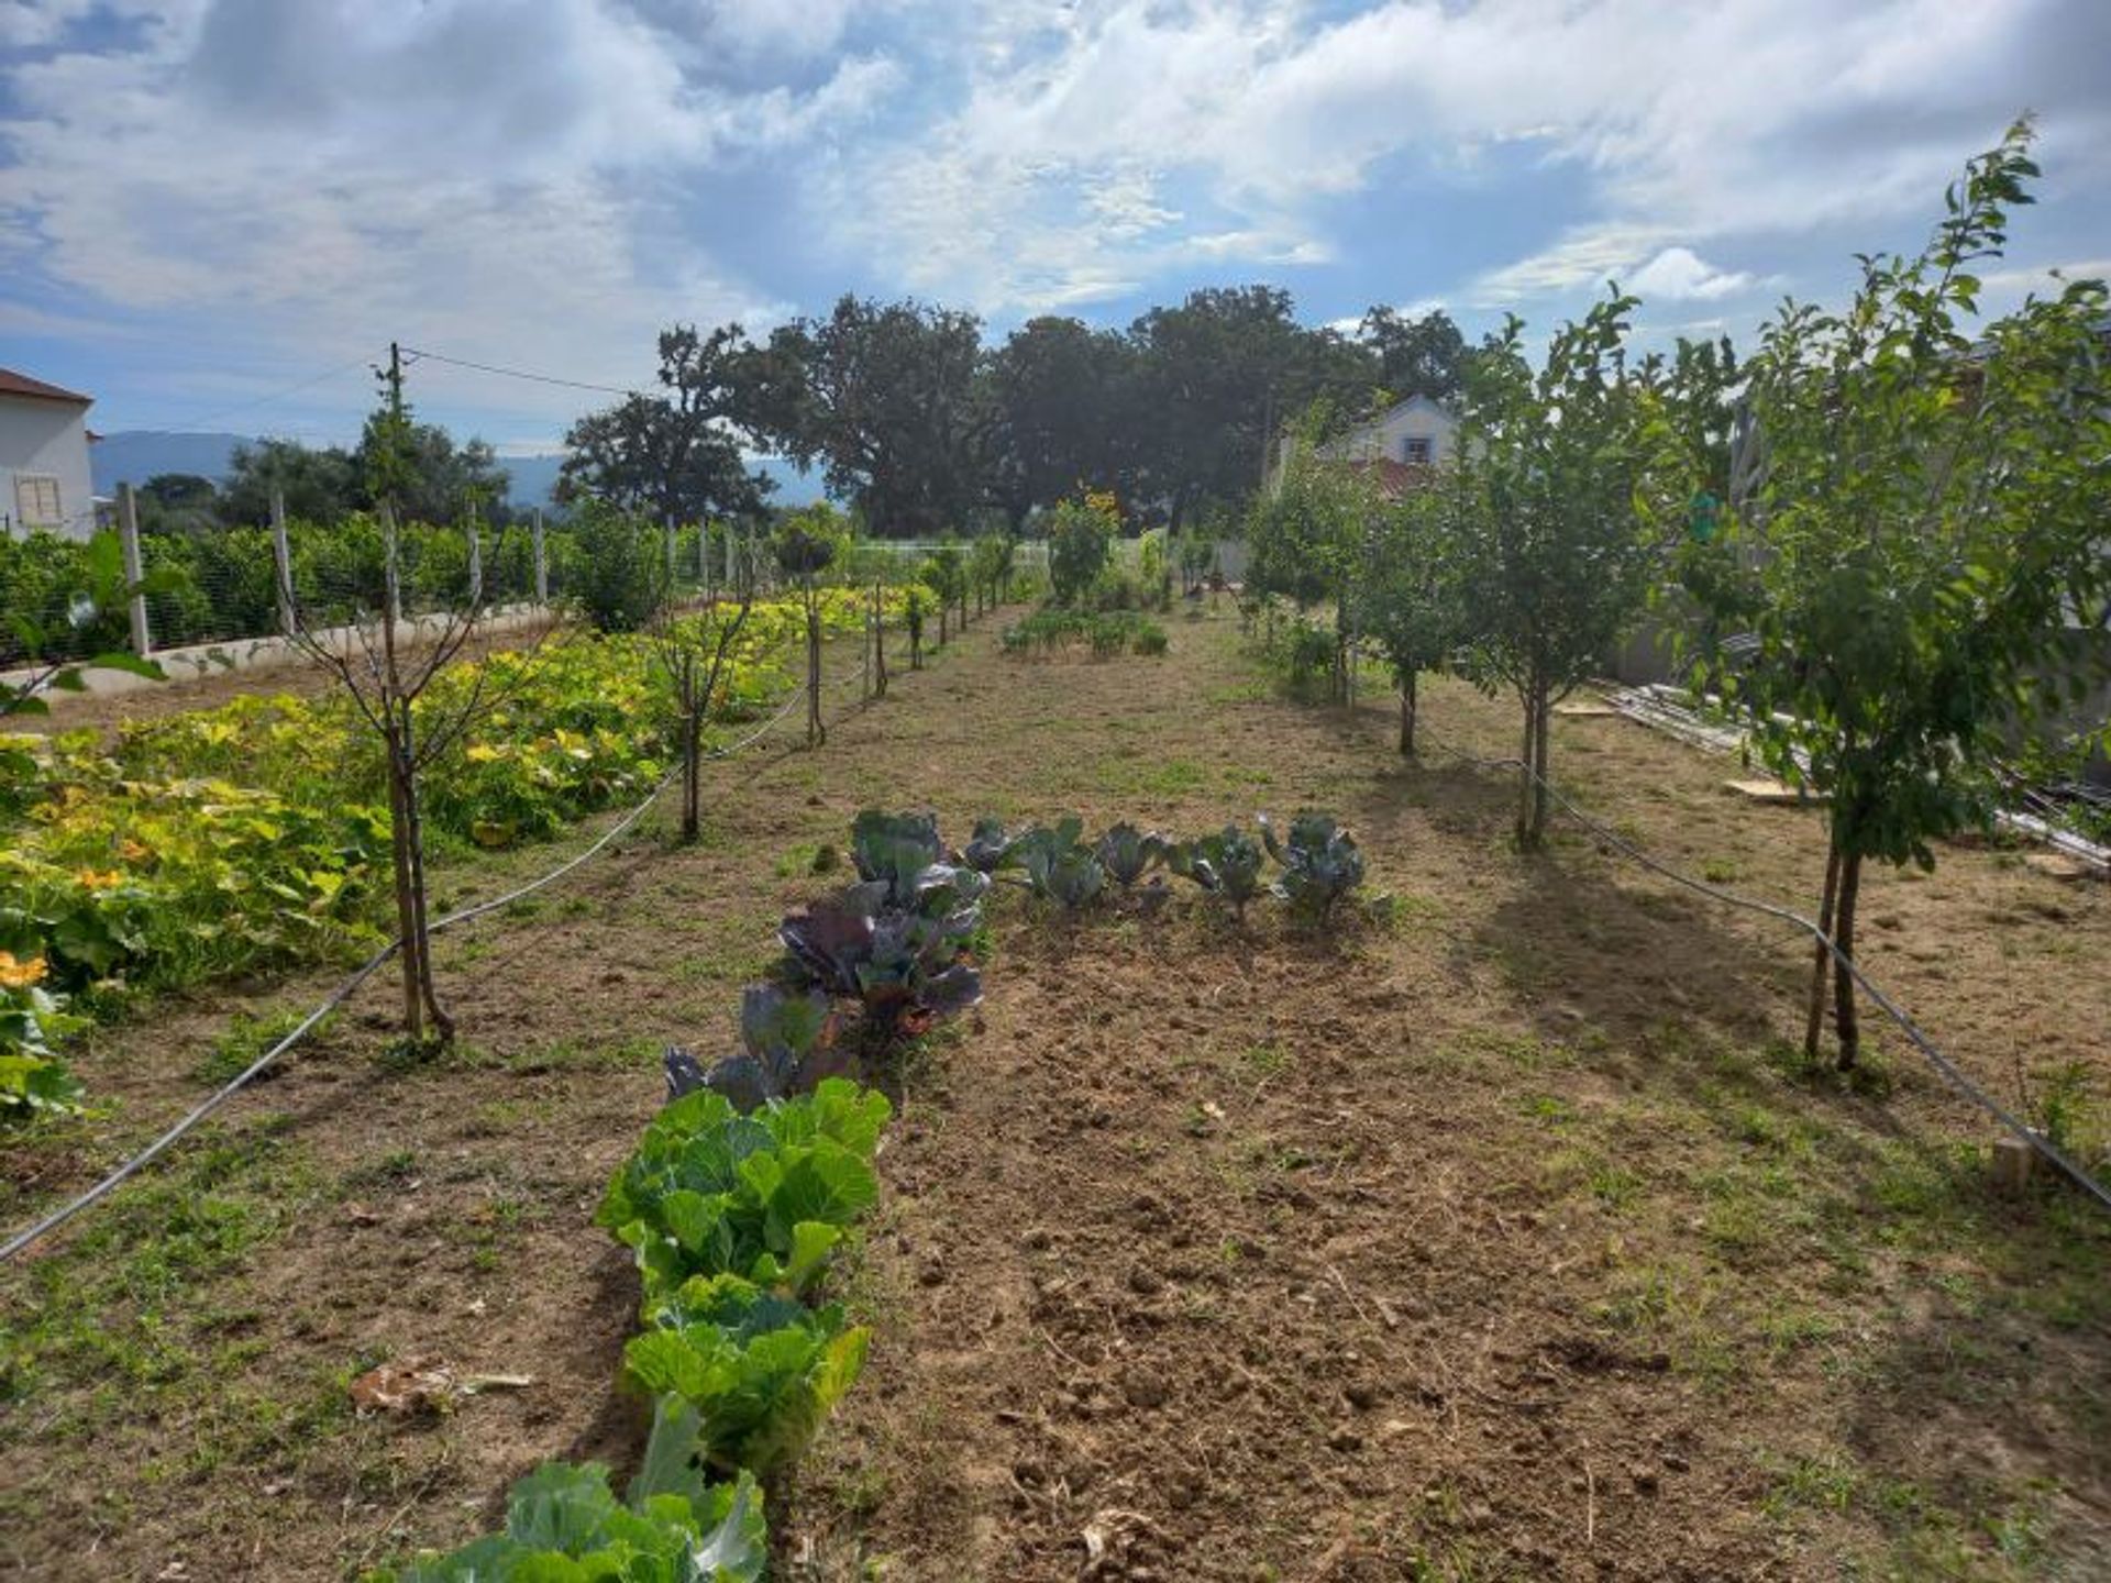
{"label": "bright white cloud band across the sky's upper right", "polygon": [[[1917,213],[2024,103],[2094,173],[2111,101],[2041,89],[2048,59],[2111,44],[2100,0],[1385,0],[1321,19],[1262,0],[1077,0],[990,8],[958,108],[853,158],[815,222],[882,268],[975,306],[1020,306],[1049,270],[1148,274],[1167,253],[1077,194],[1146,167],[1212,255],[1324,260],[1343,203],[1381,173],[1461,184],[1520,158],[1568,175],[1594,217],[1486,270],[1516,302],[1651,268],[1699,300],[1750,285],[1752,239]],[[2100,8],[2111,15],[2111,8]],[[2086,34],[2073,38],[2073,34]],[[2069,74],[2073,76],[2073,74]],[[2056,129],[2056,133],[2054,133]],[[935,196],[944,194],[944,196]],[[1220,239],[1239,239],[1239,247]],[[1685,249],[1685,258],[1666,249]],[[1188,253],[1193,255],[1195,243]],[[1452,285],[1433,281],[1431,285]]]}

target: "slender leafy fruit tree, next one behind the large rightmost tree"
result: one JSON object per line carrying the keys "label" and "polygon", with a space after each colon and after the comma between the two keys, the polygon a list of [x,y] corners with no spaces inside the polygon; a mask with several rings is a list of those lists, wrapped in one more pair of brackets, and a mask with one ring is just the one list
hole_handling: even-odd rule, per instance
{"label": "slender leafy fruit tree, next one behind the large rightmost tree", "polygon": [[1537,374],[1511,317],[1471,361],[1457,477],[1440,485],[1476,680],[1524,705],[1524,848],[1547,825],[1554,705],[1640,614],[1661,559],[1651,526],[1687,477],[1651,384],[1625,363],[1634,306],[1615,289],[1562,325]]}

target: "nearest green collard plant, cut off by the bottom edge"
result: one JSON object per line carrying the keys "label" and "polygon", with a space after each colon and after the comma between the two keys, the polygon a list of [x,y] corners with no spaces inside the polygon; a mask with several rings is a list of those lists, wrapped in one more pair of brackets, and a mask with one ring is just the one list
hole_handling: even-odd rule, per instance
{"label": "nearest green collard plant, cut off by the bottom edge", "polygon": [[602,1463],[545,1463],[507,1496],[507,1526],[367,1583],[760,1583],[768,1566],[752,1473],[709,1484],[697,1410],[661,1397],[646,1461],[619,1501]]}

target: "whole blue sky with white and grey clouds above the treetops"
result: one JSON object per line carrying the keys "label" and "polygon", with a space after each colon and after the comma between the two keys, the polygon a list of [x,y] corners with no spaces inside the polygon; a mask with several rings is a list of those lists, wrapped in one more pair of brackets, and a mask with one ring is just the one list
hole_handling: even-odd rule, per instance
{"label": "whole blue sky with white and grey clouds above the treetops", "polygon": [[[0,0],[0,363],[95,426],[344,439],[391,338],[633,386],[840,291],[1003,333],[1271,281],[1469,331],[1750,329],[2022,110],[1997,295],[2111,272],[2107,0]],[[551,447],[597,399],[422,363]]]}

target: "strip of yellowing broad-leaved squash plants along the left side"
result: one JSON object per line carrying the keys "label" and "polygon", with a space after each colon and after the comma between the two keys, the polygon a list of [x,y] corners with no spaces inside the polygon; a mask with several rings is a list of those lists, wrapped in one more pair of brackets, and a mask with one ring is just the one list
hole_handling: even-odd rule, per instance
{"label": "strip of yellowing broad-leaved squash plants along the left side", "polygon": [[[866,595],[819,604],[825,631],[863,627]],[[756,604],[711,720],[758,718],[802,631],[798,604]],[[426,827],[460,848],[511,846],[644,796],[678,749],[663,690],[638,635],[445,671],[418,718],[471,724],[426,777]],[[380,754],[340,694],[239,697],[127,724],[114,743],[0,735],[0,1119],[78,1102],[55,1055],[80,1026],[68,996],[93,1011],[327,958],[378,937],[388,895]]]}

